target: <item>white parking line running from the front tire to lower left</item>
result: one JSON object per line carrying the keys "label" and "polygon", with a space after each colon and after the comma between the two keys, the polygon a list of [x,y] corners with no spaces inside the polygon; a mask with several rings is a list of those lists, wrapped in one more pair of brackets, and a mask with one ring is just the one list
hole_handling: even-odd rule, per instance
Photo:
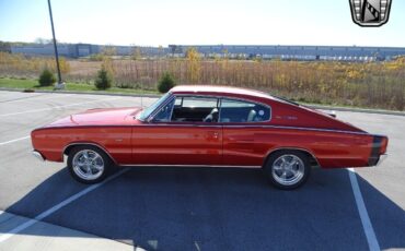
{"label": "white parking line running from the front tire to lower left", "polygon": [[96,184],[92,184],[90,186],[89,188],[78,192],[77,194],[73,194],[71,195],[70,198],[66,199],[65,201],[60,202],[59,204],[50,207],[49,210],[40,213],[39,215],[35,216],[34,218],[32,219],[28,219],[26,220],[25,223],[14,227],[13,229],[11,229],[10,231],[8,232],[4,232],[4,234],[0,234],[0,242],[3,242],[5,240],[8,240],[9,238],[11,238],[12,236],[14,236],[15,234],[19,234],[21,232],[22,230],[31,227],[32,225],[36,224],[37,222],[44,219],[45,217],[54,214],[55,212],[57,212],[58,210],[60,210],[61,207],[72,203],[73,201],[80,199],[81,196],[88,194],[89,192],[100,188],[101,186],[107,183],[108,181],[117,178],[118,176],[123,175],[124,172],[126,172],[128,169],[123,169],[121,171],[108,177],[107,179],[105,179],[103,182],[100,182],[100,183],[96,183]]}

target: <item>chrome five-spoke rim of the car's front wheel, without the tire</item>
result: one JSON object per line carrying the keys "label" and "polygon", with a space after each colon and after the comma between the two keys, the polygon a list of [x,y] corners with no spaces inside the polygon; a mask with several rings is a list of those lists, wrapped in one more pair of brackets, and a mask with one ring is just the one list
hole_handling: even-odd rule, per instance
{"label": "chrome five-spoke rim of the car's front wheel, without the tire", "polygon": [[104,172],[104,159],[92,150],[82,150],[74,154],[72,169],[81,179],[95,180]]}

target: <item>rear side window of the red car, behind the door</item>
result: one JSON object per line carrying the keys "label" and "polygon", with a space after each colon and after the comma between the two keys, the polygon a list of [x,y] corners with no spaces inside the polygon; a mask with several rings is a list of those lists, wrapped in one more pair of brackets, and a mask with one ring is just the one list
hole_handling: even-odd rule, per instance
{"label": "rear side window of the red car, behind the door", "polygon": [[258,122],[270,119],[270,108],[244,100],[221,100],[220,122]]}

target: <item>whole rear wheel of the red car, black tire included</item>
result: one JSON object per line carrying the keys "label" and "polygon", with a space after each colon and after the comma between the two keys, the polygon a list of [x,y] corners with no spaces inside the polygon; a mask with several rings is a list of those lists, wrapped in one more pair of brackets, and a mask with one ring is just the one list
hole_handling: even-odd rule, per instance
{"label": "whole rear wheel of the red car, black tire included", "polygon": [[304,184],[311,172],[311,164],[306,154],[299,151],[279,151],[271,154],[265,171],[278,189],[292,190]]}

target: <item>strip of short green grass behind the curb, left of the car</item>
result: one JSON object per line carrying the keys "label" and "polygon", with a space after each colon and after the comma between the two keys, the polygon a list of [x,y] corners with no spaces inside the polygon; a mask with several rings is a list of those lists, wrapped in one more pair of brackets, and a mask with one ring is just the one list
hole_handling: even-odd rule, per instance
{"label": "strip of short green grass behind the curb, left of the car", "polygon": [[[54,89],[54,86],[39,86],[36,80],[21,80],[21,79],[0,79],[0,87],[15,88],[15,89]],[[66,83],[65,91],[83,92],[83,93],[119,93],[119,94],[158,94],[153,91],[134,89],[134,88],[118,88],[112,87],[108,89],[96,89],[92,84],[85,83]],[[63,92],[63,91],[59,91]]]}

